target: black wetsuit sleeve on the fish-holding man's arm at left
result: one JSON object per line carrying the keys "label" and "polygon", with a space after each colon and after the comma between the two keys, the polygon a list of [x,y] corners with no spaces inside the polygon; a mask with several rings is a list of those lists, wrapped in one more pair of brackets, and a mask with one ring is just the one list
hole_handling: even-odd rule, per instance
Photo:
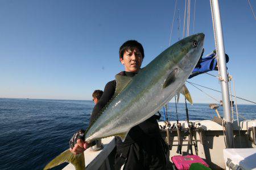
{"label": "black wetsuit sleeve on the fish-holding man's arm at left", "polygon": [[115,93],[115,80],[110,81],[106,84],[100,100],[93,108],[92,115],[90,116],[89,126],[91,125],[93,120],[100,115],[101,109],[106,105],[106,103],[109,102],[109,100],[113,97],[114,93]]}

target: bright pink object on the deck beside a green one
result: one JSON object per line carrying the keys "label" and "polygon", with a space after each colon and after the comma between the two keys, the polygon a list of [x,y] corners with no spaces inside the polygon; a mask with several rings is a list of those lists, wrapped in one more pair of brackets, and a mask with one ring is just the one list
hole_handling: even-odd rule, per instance
{"label": "bright pink object on the deck beside a green one", "polygon": [[175,164],[175,167],[179,170],[188,170],[192,163],[201,163],[206,167],[209,167],[209,165],[205,163],[205,161],[197,155],[172,156],[172,162]]}

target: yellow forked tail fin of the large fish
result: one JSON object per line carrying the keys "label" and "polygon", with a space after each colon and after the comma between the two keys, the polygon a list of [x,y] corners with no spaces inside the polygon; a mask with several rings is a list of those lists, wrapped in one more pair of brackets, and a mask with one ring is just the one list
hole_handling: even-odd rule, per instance
{"label": "yellow forked tail fin of the large fish", "polygon": [[68,150],[64,151],[62,154],[60,154],[59,156],[55,157],[55,159],[50,161],[46,165],[46,167],[44,167],[44,170],[56,167],[57,165],[60,165],[65,162],[73,164],[75,166],[76,170],[82,170],[82,169],[84,170],[85,169],[84,153],[79,154],[79,155],[74,155],[68,149]]}

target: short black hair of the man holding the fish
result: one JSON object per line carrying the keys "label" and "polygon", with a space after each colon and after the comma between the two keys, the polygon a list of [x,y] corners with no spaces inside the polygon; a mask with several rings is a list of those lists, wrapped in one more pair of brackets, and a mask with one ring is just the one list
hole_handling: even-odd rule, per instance
{"label": "short black hair of the man holding the fish", "polygon": [[144,49],[142,44],[136,40],[128,40],[127,42],[123,43],[123,45],[121,45],[119,48],[119,59],[123,59],[123,53],[125,53],[125,51],[134,51],[135,48],[139,49],[139,52],[142,54],[142,59],[144,59]]}

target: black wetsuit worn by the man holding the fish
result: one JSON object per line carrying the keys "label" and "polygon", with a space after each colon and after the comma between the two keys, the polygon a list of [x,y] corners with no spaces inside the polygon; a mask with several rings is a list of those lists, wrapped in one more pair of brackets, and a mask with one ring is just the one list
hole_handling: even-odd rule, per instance
{"label": "black wetsuit worn by the man holding the fish", "polygon": [[[123,76],[133,77],[135,73],[121,72]],[[106,84],[100,101],[94,106],[90,120],[98,117],[102,107],[108,103],[115,92],[115,80]],[[91,123],[91,122],[90,122]],[[164,142],[160,136],[156,116],[134,126],[126,136],[125,142],[117,139],[117,154],[115,155],[115,169],[166,169],[166,155]]]}

